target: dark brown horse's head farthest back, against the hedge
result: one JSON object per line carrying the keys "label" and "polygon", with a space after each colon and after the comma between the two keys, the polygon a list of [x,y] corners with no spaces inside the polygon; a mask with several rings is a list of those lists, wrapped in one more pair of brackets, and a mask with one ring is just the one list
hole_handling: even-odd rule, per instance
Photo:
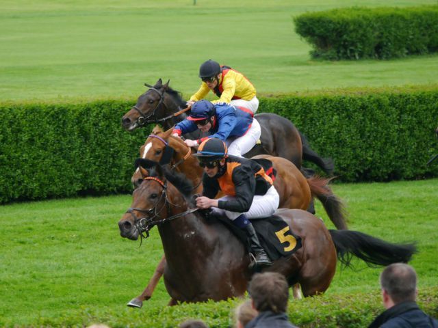
{"label": "dark brown horse's head farthest back, against the hedge", "polygon": [[155,85],[149,85],[144,94],[137,99],[137,103],[133,106],[122,118],[122,126],[127,131],[132,131],[135,128],[143,126],[149,122],[157,120],[157,111],[160,111],[164,106],[164,97],[169,89],[169,81],[163,84],[162,79],[159,79]]}

